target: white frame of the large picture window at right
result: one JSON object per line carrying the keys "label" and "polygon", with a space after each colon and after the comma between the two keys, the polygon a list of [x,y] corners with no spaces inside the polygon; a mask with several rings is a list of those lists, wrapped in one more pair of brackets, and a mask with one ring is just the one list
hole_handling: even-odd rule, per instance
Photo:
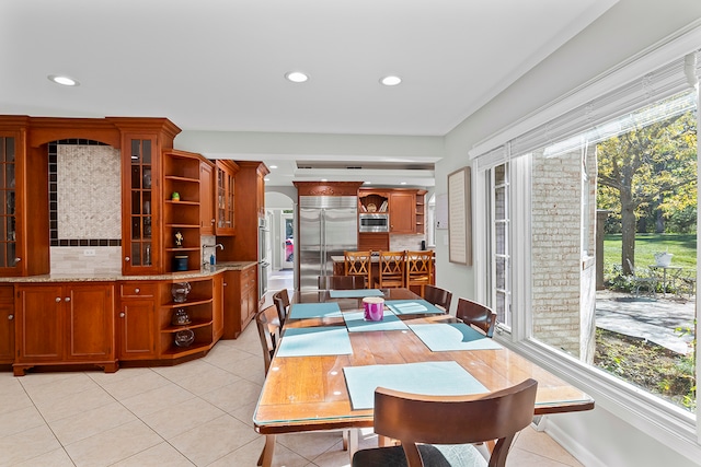
{"label": "white frame of the large picture window at right", "polygon": [[[484,171],[494,166],[498,162],[498,157],[508,157],[507,152],[510,149],[512,140],[556,119],[570,109],[584,106],[610,90],[619,89],[635,79],[640,79],[651,70],[656,70],[679,57],[694,52],[699,48],[701,48],[701,26],[696,24],[694,27],[690,27],[678,36],[651,47],[628,62],[622,63],[618,69],[593,80],[551,106],[542,108],[528,118],[476,144],[469,152],[478,174],[474,190],[474,212],[478,220],[475,224],[480,225],[489,222],[484,208],[487,201],[484,199]],[[700,63],[686,62],[689,82],[697,85],[697,89],[699,89],[699,78],[697,77],[701,77],[701,59],[699,61]],[[701,132],[701,128],[699,128],[701,127],[701,97],[699,101],[697,116],[699,119],[698,131]],[[701,138],[698,140],[701,141]],[[498,148],[503,148],[503,150],[499,152]],[[520,159],[517,157],[514,161],[519,161]],[[515,170],[514,166],[510,168],[512,197],[513,201],[518,203],[518,206],[512,206],[514,209],[512,229],[525,232],[526,238],[528,238],[528,233],[530,232],[530,225],[528,224],[528,219],[530,218],[530,167],[526,165],[519,170]],[[699,175],[698,186],[701,187],[701,175]],[[701,188],[699,189],[701,192]],[[701,227],[701,219],[698,220],[698,227]],[[486,236],[487,232],[484,229],[479,229],[475,235],[475,244],[484,245],[490,242]],[[519,249],[522,252],[518,253]],[[563,380],[586,390],[597,400],[597,404],[605,406],[607,410],[628,421],[651,437],[658,440],[689,458],[701,457],[701,423],[698,422],[699,413],[701,413],[701,404],[697,404],[697,415],[694,417],[680,407],[676,407],[593,365],[587,365],[564,352],[556,351],[531,339],[531,316],[528,312],[528,303],[530,301],[530,280],[528,278],[531,270],[528,255],[529,248],[513,248],[512,250],[515,254],[518,253],[518,256],[515,255],[513,257],[512,264],[512,283],[514,284],[512,296],[513,323],[510,332],[501,329],[495,338],[505,346],[527,354],[530,360]],[[484,288],[487,284],[481,278],[487,272],[489,258],[485,257],[486,254],[484,252],[480,252],[480,249],[478,252],[479,255],[475,260],[476,296],[478,299],[484,299],[487,294]],[[697,250],[697,264],[701,265],[701,250]],[[697,301],[697,317],[699,316],[699,302]],[[699,329],[701,328],[699,319],[697,319],[697,323],[696,335],[699,336]],[[701,375],[701,359],[697,359],[697,375]],[[698,401],[699,392],[697,393]]]}

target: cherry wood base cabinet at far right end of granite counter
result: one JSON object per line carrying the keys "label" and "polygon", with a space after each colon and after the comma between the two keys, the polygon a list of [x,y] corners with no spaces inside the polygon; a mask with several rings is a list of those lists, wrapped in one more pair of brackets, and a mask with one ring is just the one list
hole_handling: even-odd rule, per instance
{"label": "cherry wood base cabinet at far right end of granite counter", "polygon": [[258,310],[257,265],[225,272],[223,338],[235,339]]}

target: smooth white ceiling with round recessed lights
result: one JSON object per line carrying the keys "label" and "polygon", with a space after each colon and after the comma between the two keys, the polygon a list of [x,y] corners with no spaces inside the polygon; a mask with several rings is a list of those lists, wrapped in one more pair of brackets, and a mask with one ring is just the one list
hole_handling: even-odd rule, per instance
{"label": "smooth white ceiling with round recessed lights", "polygon": [[[614,2],[2,0],[0,113],[168,117],[184,132],[444,136]],[[292,70],[311,78],[290,83]],[[403,83],[382,86],[386,74]],[[296,157],[263,160],[302,179]],[[428,172],[412,182],[433,185]]]}

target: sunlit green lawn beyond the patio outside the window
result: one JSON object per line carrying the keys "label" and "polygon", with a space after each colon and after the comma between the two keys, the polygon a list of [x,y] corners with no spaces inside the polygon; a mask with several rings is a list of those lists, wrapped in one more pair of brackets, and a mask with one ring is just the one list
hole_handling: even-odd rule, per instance
{"label": "sunlit green lawn beyond the patio outside the window", "polygon": [[[696,234],[637,234],[635,236],[635,265],[655,264],[655,253],[671,253],[671,264],[686,269],[697,267]],[[610,234],[604,238],[604,265],[621,264],[621,235]]]}

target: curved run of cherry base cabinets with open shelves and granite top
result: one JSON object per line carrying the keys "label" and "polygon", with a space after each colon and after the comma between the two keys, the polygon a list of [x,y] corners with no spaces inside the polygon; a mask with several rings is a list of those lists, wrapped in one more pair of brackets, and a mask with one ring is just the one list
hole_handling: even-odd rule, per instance
{"label": "curved run of cherry base cabinets with open shelves and granite top", "polygon": [[256,268],[231,261],[152,276],[1,278],[0,364],[21,376],[32,367],[115,372],[204,357],[255,315]]}

